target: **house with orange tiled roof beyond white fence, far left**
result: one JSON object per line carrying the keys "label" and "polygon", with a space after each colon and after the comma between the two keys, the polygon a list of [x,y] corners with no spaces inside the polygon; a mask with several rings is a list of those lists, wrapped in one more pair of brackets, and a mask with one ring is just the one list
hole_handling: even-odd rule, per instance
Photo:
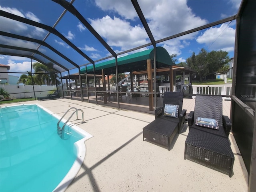
{"label": "house with orange tiled roof beyond white fence, far left", "polygon": [[10,70],[10,66],[0,64],[0,84],[8,83],[10,85],[16,85],[19,77],[9,75],[8,70]]}

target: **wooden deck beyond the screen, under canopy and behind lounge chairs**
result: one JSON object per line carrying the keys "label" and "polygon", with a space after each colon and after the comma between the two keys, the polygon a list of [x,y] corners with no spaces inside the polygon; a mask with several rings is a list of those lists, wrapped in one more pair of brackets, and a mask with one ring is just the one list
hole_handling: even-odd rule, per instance
{"label": "wooden deck beyond the screen, under canopy and behind lounge chairs", "polygon": [[[65,98],[68,98],[68,97],[65,97]],[[73,99],[80,100],[81,98],[76,98],[73,96]],[[162,106],[163,99],[164,98],[160,98],[160,97],[156,99],[157,108]],[[87,98],[84,98],[84,101],[88,102]],[[120,102],[121,109],[134,110],[134,111],[154,114],[154,111],[149,110],[148,97],[122,96],[119,99],[119,102]],[[95,96],[90,97],[90,103],[96,103]],[[118,107],[116,98],[114,97],[108,98],[107,104],[104,104],[103,98],[98,96],[98,104],[104,105],[104,106],[110,106],[114,108]],[[184,98],[183,109],[187,110],[186,119],[187,119],[188,113],[194,110],[194,105],[195,105],[195,99]],[[223,100],[222,113],[223,115],[226,115],[229,118],[230,118],[230,106],[231,106],[231,101]]]}

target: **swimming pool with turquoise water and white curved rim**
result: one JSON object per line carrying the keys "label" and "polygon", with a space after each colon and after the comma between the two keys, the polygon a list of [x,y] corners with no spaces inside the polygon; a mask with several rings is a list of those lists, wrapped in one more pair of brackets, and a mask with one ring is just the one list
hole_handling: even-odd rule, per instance
{"label": "swimming pool with turquoise water and white curved rim", "polygon": [[84,141],[92,135],[68,123],[68,139],[62,140],[57,134],[59,119],[37,104],[0,108],[1,191],[66,189],[84,161]]}

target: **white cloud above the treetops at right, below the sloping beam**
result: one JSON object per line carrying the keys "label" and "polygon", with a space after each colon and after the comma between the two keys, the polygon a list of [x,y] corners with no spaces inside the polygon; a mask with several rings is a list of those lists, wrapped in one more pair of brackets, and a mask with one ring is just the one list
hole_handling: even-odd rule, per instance
{"label": "white cloud above the treetops at right, below the sloping beam", "polygon": [[224,23],[220,27],[211,27],[202,33],[196,41],[206,44],[209,50],[234,51],[236,30]]}

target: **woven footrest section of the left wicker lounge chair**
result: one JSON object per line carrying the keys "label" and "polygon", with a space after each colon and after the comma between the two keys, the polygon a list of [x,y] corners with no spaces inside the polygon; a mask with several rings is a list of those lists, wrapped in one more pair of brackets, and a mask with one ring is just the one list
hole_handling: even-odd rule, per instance
{"label": "woven footrest section of the left wicker lounge chair", "polygon": [[170,150],[170,144],[175,134],[178,132],[178,123],[172,122],[172,118],[165,120],[157,118],[143,128],[143,141],[144,138],[153,143],[163,145]]}

